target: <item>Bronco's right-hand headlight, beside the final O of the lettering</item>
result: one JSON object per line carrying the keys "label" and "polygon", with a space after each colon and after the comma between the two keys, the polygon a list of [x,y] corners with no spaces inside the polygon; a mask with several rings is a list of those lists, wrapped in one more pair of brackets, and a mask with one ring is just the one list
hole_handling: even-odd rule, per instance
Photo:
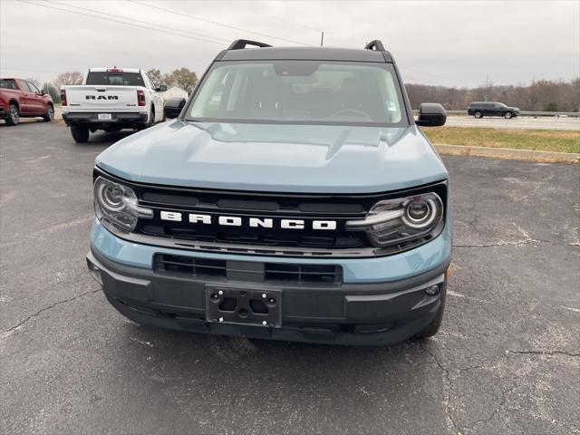
{"label": "Bronco's right-hand headlight, beside the final O of the lettering", "polygon": [[380,201],[366,218],[350,220],[346,227],[364,229],[373,245],[388,247],[434,233],[442,217],[441,198],[430,192]]}

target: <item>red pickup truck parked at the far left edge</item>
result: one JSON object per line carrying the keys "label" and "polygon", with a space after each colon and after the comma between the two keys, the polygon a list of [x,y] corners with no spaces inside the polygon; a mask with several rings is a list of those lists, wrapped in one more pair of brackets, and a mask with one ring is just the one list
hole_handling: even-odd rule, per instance
{"label": "red pickup truck parked at the far left edge", "polygon": [[41,92],[34,83],[22,79],[0,79],[0,119],[16,125],[20,118],[42,116],[54,119],[53,99]]}

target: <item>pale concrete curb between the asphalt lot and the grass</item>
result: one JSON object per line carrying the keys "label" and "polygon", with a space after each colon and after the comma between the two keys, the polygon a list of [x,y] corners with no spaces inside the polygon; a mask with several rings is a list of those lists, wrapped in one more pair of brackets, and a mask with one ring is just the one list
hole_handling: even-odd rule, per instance
{"label": "pale concrete curb between the asphalt lot and the grass", "polygon": [[488,157],[490,159],[526,160],[542,163],[580,163],[580,154],[573,152],[512,150],[510,148],[469,147],[463,145],[434,144],[443,156]]}

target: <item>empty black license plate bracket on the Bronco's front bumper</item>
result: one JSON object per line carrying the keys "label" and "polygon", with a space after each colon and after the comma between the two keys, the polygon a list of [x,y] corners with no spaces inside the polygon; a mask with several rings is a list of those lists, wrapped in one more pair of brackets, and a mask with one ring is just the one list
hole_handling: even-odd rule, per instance
{"label": "empty black license plate bracket on the Bronco's front bumper", "polygon": [[206,320],[279,328],[282,325],[282,292],[208,286]]}

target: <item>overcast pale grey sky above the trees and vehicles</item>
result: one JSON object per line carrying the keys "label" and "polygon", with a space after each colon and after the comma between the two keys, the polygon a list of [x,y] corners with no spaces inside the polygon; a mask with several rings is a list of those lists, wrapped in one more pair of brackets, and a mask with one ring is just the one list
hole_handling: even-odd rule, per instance
{"label": "overcast pale grey sky above the trees and vehicles", "polygon": [[324,30],[327,46],[381,39],[405,82],[471,87],[487,74],[496,84],[580,75],[580,0],[138,1],[145,5],[0,0],[0,73],[52,81],[117,65],[200,75],[234,39],[319,45]]}

